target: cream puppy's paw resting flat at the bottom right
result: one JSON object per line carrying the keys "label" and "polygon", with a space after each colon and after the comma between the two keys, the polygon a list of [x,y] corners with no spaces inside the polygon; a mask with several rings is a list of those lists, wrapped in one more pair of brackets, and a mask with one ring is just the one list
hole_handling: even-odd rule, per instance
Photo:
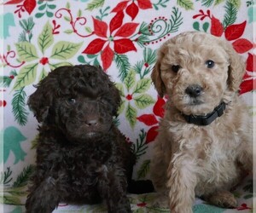
{"label": "cream puppy's paw resting flat at the bottom right", "polygon": [[217,205],[226,209],[236,208],[236,198],[230,192],[217,192],[207,198],[207,201],[211,204]]}

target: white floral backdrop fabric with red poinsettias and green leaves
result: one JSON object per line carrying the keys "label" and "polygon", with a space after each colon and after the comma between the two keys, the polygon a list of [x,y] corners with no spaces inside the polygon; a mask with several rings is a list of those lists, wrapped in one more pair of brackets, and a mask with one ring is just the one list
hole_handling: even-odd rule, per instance
{"label": "white floral backdrop fabric with red poinsettias and green leaves", "polygon": [[[38,123],[26,106],[33,85],[58,66],[101,65],[121,91],[115,122],[137,154],[135,179],[149,178],[150,152],[166,100],[150,79],[161,43],[184,31],[201,31],[232,43],[247,63],[241,96],[253,106],[253,0],[0,0],[0,203],[3,212],[23,212],[26,184],[33,170]],[[2,119],[2,118],[1,118]],[[195,212],[253,212],[253,183],[248,177],[234,191],[236,210],[197,199]],[[129,195],[134,212],[168,212],[151,205],[155,194]],[[60,204],[67,210],[104,212],[104,205]]]}

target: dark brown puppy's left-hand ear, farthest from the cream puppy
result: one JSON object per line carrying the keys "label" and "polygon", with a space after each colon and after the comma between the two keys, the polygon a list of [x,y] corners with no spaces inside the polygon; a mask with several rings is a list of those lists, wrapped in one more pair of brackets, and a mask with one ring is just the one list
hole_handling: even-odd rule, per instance
{"label": "dark brown puppy's left-hand ear, farthest from the cream puppy", "polygon": [[30,107],[39,123],[43,122],[48,116],[56,85],[57,82],[55,79],[48,76],[38,83],[36,91],[28,98],[27,105]]}

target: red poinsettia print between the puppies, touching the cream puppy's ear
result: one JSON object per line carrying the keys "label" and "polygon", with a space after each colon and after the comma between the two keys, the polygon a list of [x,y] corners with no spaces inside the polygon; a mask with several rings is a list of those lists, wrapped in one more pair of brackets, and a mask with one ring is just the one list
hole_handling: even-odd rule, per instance
{"label": "red poinsettia print between the puppies, touching the cream puppy's ear", "polygon": [[163,118],[165,114],[164,105],[166,104],[166,101],[163,98],[158,97],[157,101],[154,104],[153,107],[153,113],[152,114],[143,114],[140,117],[137,117],[137,119],[140,122],[143,122],[147,126],[151,126],[148,130],[146,143],[154,141],[156,135],[158,135],[158,128],[159,128],[159,118]]}

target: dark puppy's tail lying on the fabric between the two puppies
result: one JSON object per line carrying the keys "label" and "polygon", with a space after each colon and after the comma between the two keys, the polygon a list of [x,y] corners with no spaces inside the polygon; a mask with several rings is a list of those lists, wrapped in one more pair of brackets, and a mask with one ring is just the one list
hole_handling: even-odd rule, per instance
{"label": "dark puppy's tail lying on the fabric between the two puppies", "polygon": [[153,193],[154,192],[154,186],[152,181],[149,180],[140,180],[140,181],[134,181],[131,180],[128,184],[128,193]]}

